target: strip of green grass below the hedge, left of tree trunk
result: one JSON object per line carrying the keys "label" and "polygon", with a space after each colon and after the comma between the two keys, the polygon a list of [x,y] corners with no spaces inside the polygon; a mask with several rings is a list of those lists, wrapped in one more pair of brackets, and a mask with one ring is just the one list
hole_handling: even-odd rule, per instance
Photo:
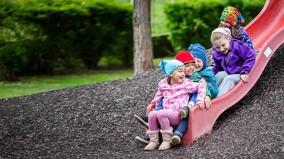
{"label": "strip of green grass below the hedge, left of tree trunk", "polygon": [[0,82],[0,99],[62,88],[88,85],[133,76],[133,70],[88,70],[65,75],[41,75],[20,77],[17,82]]}

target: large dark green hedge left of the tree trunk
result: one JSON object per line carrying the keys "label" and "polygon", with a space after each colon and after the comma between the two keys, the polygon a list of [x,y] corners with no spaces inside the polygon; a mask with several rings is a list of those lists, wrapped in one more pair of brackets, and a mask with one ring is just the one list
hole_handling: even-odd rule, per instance
{"label": "large dark green hedge left of the tree trunk", "polygon": [[[52,73],[104,57],[133,63],[132,6],[114,0],[0,0],[0,51],[16,74]],[[15,62],[17,59],[17,63]]]}

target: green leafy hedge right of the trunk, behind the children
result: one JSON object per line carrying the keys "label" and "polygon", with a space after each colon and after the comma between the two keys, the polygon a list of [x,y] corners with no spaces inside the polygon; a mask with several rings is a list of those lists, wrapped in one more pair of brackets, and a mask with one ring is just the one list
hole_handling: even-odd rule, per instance
{"label": "green leafy hedge right of the trunk, behind the children", "polygon": [[200,43],[206,49],[212,47],[210,34],[220,24],[224,7],[238,8],[245,26],[262,10],[264,0],[259,1],[213,1],[194,0],[166,4],[164,12],[171,30],[169,40],[175,50],[188,50],[190,44]]}

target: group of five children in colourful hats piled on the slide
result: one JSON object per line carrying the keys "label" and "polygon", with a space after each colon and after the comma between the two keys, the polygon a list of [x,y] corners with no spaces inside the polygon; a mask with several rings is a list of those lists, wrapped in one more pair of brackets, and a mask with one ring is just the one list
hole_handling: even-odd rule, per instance
{"label": "group of five children in colourful hats piled on the slide", "polygon": [[[159,82],[151,102],[156,103],[156,108],[148,116],[134,115],[149,128],[148,136],[135,138],[147,144],[145,150],[167,150],[180,144],[191,107],[209,109],[212,98],[228,92],[240,79],[249,82],[248,73],[257,52],[244,28],[239,26],[244,19],[236,8],[228,6],[220,20],[219,27],[211,33],[213,46],[209,66],[205,48],[200,44],[191,44],[188,51],[179,52],[174,60],[161,60],[159,66],[166,77]],[[161,144],[159,133],[163,138]]]}

